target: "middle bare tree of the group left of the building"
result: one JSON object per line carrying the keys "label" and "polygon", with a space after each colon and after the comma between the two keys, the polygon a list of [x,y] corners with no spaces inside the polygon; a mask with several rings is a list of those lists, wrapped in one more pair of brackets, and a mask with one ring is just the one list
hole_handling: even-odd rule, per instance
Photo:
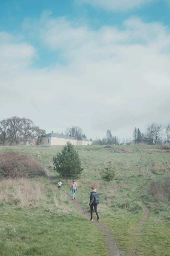
{"label": "middle bare tree of the group left of the building", "polygon": [[22,120],[20,117],[13,116],[11,118],[8,118],[7,122],[11,144],[15,142],[16,145],[18,145],[19,138],[21,136]]}

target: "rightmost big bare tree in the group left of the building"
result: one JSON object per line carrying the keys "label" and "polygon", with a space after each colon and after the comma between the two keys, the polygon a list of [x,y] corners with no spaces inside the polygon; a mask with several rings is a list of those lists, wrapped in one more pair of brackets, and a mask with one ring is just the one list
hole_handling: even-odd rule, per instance
{"label": "rightmost big bare tree in the group left of the building", "polygon": [[33,121],[27,118],[21,119],[22,126],[20,128],[21,136],[23,136],[24,144],[26,145],[26,140],[28,140],[34,133],[40,132],[40,128],[35,126]]}

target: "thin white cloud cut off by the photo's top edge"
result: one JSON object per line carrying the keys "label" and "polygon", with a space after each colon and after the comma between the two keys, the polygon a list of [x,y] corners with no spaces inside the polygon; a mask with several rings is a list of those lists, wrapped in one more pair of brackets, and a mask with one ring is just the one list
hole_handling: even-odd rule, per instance
{"label": "thin white cloud cut off by the photo's top edge", "polygon": [[[79,3],[79,0],[76,0]],[[94,7],[104,8],[108,11],[127,10],[139,8],[155,0],[80,0],[81,3],[88,3]]]}

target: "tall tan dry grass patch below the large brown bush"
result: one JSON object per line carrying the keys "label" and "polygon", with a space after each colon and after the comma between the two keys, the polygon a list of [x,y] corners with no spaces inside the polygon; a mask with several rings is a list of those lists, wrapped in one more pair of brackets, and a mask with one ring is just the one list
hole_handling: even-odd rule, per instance
{"label": "tall tan dry grass patch below the large brown bush", "polygon": [[57,194],[56,189],[45,183],[29,179],[2,179],[0,181],[0,203],[22,206],[35,206],[48,203],[48,211],[70,212],[68,199]]}

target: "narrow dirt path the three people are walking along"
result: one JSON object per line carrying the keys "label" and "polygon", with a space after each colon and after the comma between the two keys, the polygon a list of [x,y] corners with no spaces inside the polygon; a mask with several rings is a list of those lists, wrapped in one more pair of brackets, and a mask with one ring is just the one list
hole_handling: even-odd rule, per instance
{"label": "narrow dirt path the three people are walking along", "polygon": [[[55,184],[52,183],[51,181],[51,177],[50,177],[50,170],[44,166],[45,170],[47,171],[47,175],[48,175],[48,181],[50,184],[56,186]],[[67,196],[68,199],[72,200],[72,197],[69,196],[67,193],[65,193],[64,191],[61,190],[62,193],[64,193],[64,195]],[[84,209],[80,206],[80,204],[78,202],[76,202],[76,200],[72,200],[72,202],[74,203],[74,205],[76,206],[76,208],[78,209],[78,212],[86,219],[89,220],[89,214],[87,214]],[[91,222],[93,225],[95,225],[99,230],[101,230],[104,234],[104,238],[106,240],[106,247],[109,250],[109,254],[107,256],[121,256],[123,255],[125,252],[121,251],[117,244],[116,241],[113,239],[111,232],[109,229],[106,228],[105,225],[103,225],[101,222]]]}

